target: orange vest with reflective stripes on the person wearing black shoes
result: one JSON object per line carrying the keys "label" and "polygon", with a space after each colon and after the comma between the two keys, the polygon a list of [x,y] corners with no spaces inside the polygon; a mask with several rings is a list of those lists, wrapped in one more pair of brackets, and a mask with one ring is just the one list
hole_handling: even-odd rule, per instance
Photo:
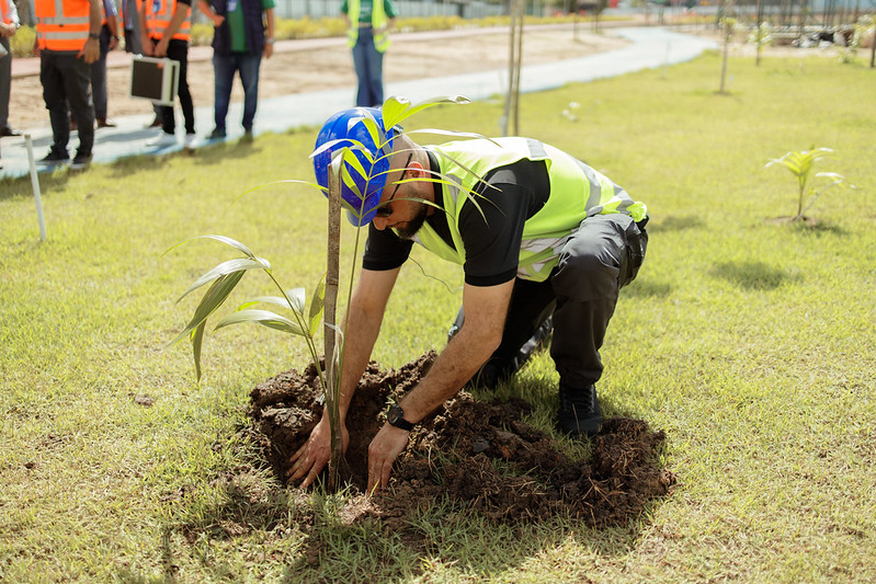
{"label": "orange vest with reflective stripes on the person wearing black shoes", "polygon": [[89,0],[36,0],[34,8],[41,49],[82,50],[90,28]]}

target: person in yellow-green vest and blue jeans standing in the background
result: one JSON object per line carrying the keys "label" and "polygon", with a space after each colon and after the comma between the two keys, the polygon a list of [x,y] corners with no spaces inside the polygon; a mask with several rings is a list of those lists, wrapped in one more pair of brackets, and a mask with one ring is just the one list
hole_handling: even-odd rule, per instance
{"label": "person in yellow-green vest and blue jeans standing in the background", "polygon": [[396,22],[393,0],[343,0],[341,13],[346,22],[346,44],[353,49],[353,67],[359,78],[356,105],[384,103],[384,53],[389,47],[389,28]]}

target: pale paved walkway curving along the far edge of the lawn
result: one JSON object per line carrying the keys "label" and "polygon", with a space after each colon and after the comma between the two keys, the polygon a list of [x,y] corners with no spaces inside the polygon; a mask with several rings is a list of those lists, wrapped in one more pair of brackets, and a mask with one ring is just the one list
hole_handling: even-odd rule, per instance
{"label": "pale paved walkway curving along the far edge of the lawn", "polygon": [[[674,33],[660,27],[622,27],[615,34],[629,39],[627,47],[606,53],[589,55],[578,59],[561,60],[550,64],[524,67],[521,71],[521,91],[543,91],[560,88],[572,82],[585,82],[641,69],[653,69],[664,65],[693,59],[706,49],[717,48],[713,41]],[[431,33],[418,33],[419,35]],[[468,33],[470,34],[470,32]],[[446,36],[446,34],[444,35]],[[287,44],[288,43],[288,44]],[[293,45],[294,43],[294,45]],[[320,38],[310,41],[285,42],[282,50],[305,50],[322,44],[343,43],[339,38]],[[280,43],[278,43],[280,44]],[[211,47],[192,47],[190,58],[212,58]],[[110,66],[128,66],[129,56],[116,51]],[[35,59],[13,60],[13,77],[34,75],[29,68],[37,67]],[[435,98],[437,95],[465,95],[470,100],[485,100],[491,95],[502,94],[507,88],[507,69],[388,83],[386,95],[405,95],[413,102]],[[318,126],[334,112],[350,107],[354,88],[298,93],[283,98],[260,100],[259,113],[255,116],[253,133],[258,136],[265,131],[282,133],[300,126]],[[242,116],[242,104],[232,103],[229,117]],[[152,114],[115,117],[117,127],[101,128],[94,137],[94,162],[106,163],[120,158],[167,153],[182,148],[182,135],[178,136],[180,145],[170,148],[149,148],[146,141],[157,135],[155,129],[144,129],[151,122]],[[48,119],[46,119],[48,122]],[[213,128],[213,106],[195,108],[196,127]],[[178,124],[178,126],[181,126]],[[182,128],[178,128],[182,131]],[[205,130],[200,135],[201,144],[205,141]],[[29,130],[33,142],[33,154],[39,159],[46,154],[52,145],[52,130],[48,127]],[[228,138],[234,140],[242,134],[242,128],[229,127]],[[70,140],[71,150],[78,144],[76,136]],[[29,174],[29,159],[24,136],[3,138],[3,169],[0,176],[23,176]]]}

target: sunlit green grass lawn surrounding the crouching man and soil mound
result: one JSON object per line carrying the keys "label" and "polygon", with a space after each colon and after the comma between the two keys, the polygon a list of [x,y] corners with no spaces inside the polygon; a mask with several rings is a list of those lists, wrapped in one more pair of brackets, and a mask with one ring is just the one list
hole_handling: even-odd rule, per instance
{"label": "sunlit green grass lawn surrounding the crouching man and soil mound", "polygon": [[[310,180],[314,128],[42,175],[45,242],[30,181],[1,183],[0,581],[876,580],[876,71],[736,58],[729,95],[719,73],[712,54],[522,98],[521,134],[588,161],[652,218],[600,390],[608,415],[667,432],[661,462],[679,483],[627,527],[509,528],[436,505],[413,547],[250,468],[236,437],[249,390],[304,367],[304,344],[223,330],[196,385],[187,345],[166,350],[196,302],[175,299],[231,254],[208,241],[162,253],[221,233],[310,289],[325,199],[273,184],[234,201]],[[501,112],[413,122],[492,135]],[[764,164],[811,146],[833,148],[819,170],[857,188],[789,225],[796,182]],[[460,301],[454,266],[416,257],[375,351],[385,366],[441,348]],[[242,288],[241,300],[272,291],[259,275]],[[548,420],[556,381],[543,355],[505,392]],[[300,505],[320,509],[314,525]]]}

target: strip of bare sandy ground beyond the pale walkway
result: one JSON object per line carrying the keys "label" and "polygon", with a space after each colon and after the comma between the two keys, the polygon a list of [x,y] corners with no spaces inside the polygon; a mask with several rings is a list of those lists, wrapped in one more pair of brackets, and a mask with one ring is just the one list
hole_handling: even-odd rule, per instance
{"label": "strip of bare sandy ground beyond the pale walkway", "polygon": [[[423,38],[411,38],[416,36]],[[524,65],[577,58],[625,45],[625,39],[611,33],[593,34],[579,30],[574,35],[571,27],[527,32],[523,44]],[[402,38],[399,35],[384,60],[384,80],[393,82],[504,69],[508,60],[507,34],[483,34],[475,30],[444,38],[434,38],[432,35],[403,35]],[[107,77],[110,118],[150,111],[148,102],[128,96],[129,67],[110,68]],[[195,106],[212,105],[213,62],[209,59],[190,60],[187,77]],[[262,61],[259,96],[266,99],[346,87],[353,99],[355,84],[352,56],[343,44],[311,50],[277,50],[270,59]],[[236,82],[231,99],[242,101],[242,90]],[[38,76],[13,79],[10,124],[15,128],[48,125]]]}

